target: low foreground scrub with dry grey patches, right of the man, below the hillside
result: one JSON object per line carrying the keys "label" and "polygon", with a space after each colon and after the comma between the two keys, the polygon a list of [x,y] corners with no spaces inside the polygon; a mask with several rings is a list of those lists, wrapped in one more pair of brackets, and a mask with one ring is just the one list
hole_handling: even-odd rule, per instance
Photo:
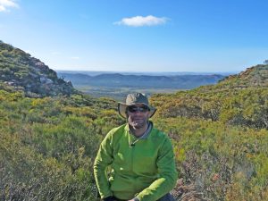
{"label": "low foreground scrub with dry grey patches, right of the man, below the hillside", "polygon": [[155,124],[172,138],[183,185],[197,186],[205,200],[265,200],[267,130],[186,118]]}

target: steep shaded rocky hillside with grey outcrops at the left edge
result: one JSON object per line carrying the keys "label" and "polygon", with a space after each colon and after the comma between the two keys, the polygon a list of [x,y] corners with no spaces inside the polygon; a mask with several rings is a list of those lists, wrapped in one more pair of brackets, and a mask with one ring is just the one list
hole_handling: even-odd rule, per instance
{"label": "steep shaded rocky hillside with grey outcrops at the left edge", "polygon": [[45,63],[0,40],[0,89],[23,91],[25,96],[69,96],[71,82],[59,79]]}

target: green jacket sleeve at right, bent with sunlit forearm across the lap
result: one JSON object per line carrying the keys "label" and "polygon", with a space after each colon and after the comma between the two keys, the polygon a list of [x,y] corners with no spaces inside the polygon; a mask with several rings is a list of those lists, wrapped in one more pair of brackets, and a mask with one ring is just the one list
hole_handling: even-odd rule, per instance
{"label": "green jacket sleeve at right, bent with sunlit forearm across the lap", "polygon": [[155,201],[171,191],[176,184],[178,174],[175,167],[172,143],[168,138],[166,138],[159,150],[156,165],[159,178],[136,195],[139,201]]}

